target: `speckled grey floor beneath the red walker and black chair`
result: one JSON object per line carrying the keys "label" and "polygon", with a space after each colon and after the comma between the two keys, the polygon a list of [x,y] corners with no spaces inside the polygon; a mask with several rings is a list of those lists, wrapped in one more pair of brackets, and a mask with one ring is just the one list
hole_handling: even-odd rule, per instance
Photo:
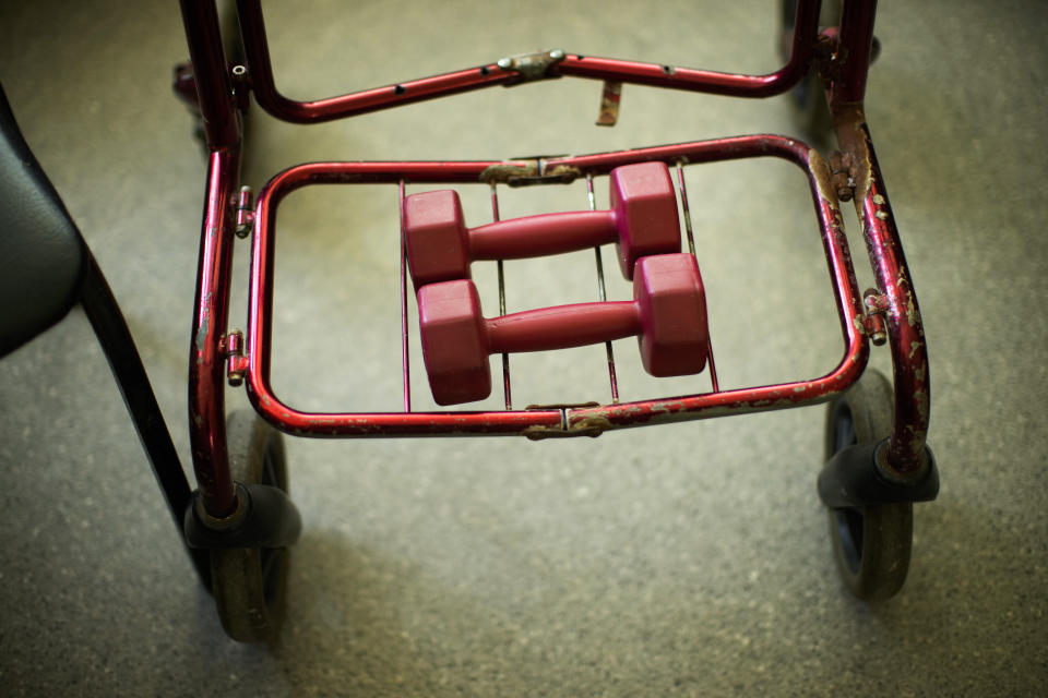
{"label": "speckled grey floor beneath the red walker and black chair", "polygon": [[[188,464],[204,166],[169,89],[186,56],[174,4],[4,3],[0,79],[109,276]],[[551,47],[773,69],[774,3],[712,4],[266,10],[278,82],[295,97]],[[1033,2],[881,5],[867,112],[922,304],[942,471],[939,500],[917,507],[896,599],[856,602],[836,578],[814,491],[821,409],[567,443],[289,440],[306,531],[287,626],[273,648],[236,645],[75,311],[0,362],[0,693],[1045,695],[1048,14]],[[598,97],[596,83],[562,80],[308,129],[260,116],[246,176],[258,185],[319,158],[796,132],[785,98],[632,86],[620,124],[600,130]],[[689,186],[723,384],[832,368],[836,321],[801,178],[776,163],[703,166]],[[305,408],[396,409],[393,194],[346,189],[287,202],[274,383]],[[469,195],[467,215],[486,220],[483,193]],[[583,204],[577,185],[546,188],[505,196],[502,213]],[[241,249],[235,325],[245,263]],[[508,265],[511,310],[591,300],[591,265]],[[490,270],[479,276],[493,308]],[[617,349],[628,397],[705,389],[704,378],[647,381],[629,342]],[[599,354],[515,360],[517,404],[608,399]],[[414,378],[422,407],[425,378]],[[242,392],[229,401],[242,405]]]}

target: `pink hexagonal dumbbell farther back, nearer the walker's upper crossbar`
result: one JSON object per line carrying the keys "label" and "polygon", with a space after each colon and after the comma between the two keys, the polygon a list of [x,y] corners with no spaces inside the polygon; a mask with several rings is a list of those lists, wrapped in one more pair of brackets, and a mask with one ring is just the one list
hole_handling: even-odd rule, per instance
{"label": "pink hexagonal dumbbell farther back, nearer the walker's upper crossbar", "polygon": [[521,260],[618,243],[619,266],[633,278],[638,258],[680,252],[674,182],[664,163],[611,170],[611,208],[543,214],[466,228],[452,190],[412,194],[404,202],[407,260],[417,291],[427,284],[469,278],[476,260]]}

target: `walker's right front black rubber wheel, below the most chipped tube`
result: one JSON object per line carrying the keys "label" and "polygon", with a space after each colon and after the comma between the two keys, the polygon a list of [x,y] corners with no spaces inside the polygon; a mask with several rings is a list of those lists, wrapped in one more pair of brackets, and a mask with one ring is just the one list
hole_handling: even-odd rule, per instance
{"label": "walker's right front black rubber wheel, below the most chipped tube", "polygon": [[[870,369],[826,413],[825,459],[846,446],[879,442],[892,431],[892,386]],[[844,586],[858,599],[895,595],[906,581],[914,539],[914,505],[830,509],[830,538]]]}

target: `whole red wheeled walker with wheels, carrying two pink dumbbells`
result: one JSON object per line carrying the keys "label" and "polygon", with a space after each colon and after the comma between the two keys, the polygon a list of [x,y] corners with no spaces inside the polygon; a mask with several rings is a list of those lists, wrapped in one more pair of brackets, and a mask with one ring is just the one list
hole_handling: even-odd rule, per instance
{"label": "whole red wheeled walker with wheels, carrying two pink dumbbells", "polygon": [[[825,466],[818,491],[829,509],[838,568],[857,597],[882,599],[898,591],[909,562],[913,503],[933,500],[939,483],[926,445],[930,387],[920,312],[862,111],[874,46],[876,2],[845,2],[839,23],[822,29],[819,0],[797,2],[788,16],[788,60],[767,75],[550,50],[313,101],[291,100],[277,91],[259,0],[237,2],[237,50],[242,56],[236,60],[224,48],[213,0],[181,0],[181,8],[191,64],[177,69],[176,89],[199,111],[209,158],[189,364],[198,490],[190,492],[177,460],[162,459],[159,465],[153,460],[231,637],[266,640],[279,626],[287,549],[301,528],[286,495],[282,433],[314,437],[500,434],[540,440],[829,402]],[[748,98],[814,84],[825,88],[838,149],[820,153],[796,139],[757,134],[510,160],[311,163],[273,176],[257,195],[241,186],[241,115],[252,97],[274,117],[315,123],[484,87],[558,77],[603,81],[605,123],[615,120],[624,83]],[[814,378],[726,387],[718,384],[715,337],[705,325],[703,261],[696,261],[691,241],[684,170],[764,157],[794,164],[807,179],[844,351],[831,371]],[[598,210],[595,182],[605,177],[611,202]],[[586,183],[590,210],[499,219],[500,193],[574,181]],[[400,206],[401,242],[397,245],[394,239],[393,248],[400,250],[402,323],[393,330],[403,338],[403,410],[305,411],[283,402],[270,382],[276,212],[295,190],[361,183],[388,185]],[[446,189],[412,191],[415,185],[432,184]],[[490,192],[490,222],[467,221],[456,209],[457,193],[476,186]],[[876,279],[876,288],[865,293],[858,290],[843,231],[839,206],[849,200],[862,226]],[[660,232],[653,232],[656,228]],[[667,229],[670,234],[665,233]],[[229,323],[237,238],[250,238],[251,245],[243,332]],[[607,301],[602,291],[597,303],[512,315],[500,309],[492,315],[490,309],[481,310],[469,280],[473,262],[493,261],[501,270],[502,260],[608,242],[618,245],[620,269],[633,282],[632,301]],[[599,260],[598,252],[598,266]],[[419,315],[417,339],[409,327],[413,297]],[[710,389],[659,399],[620,399],[610,342],[632,335],[639,337],[650,373],[708,371]],[[430,389],[440,405],[487,396],[492,383],[489,356],[502,354],[505,409],[414,410],[407,366],[414,341],[421,342]],[[865,371],[871,342],[886,344],[891,351],[891,384]],[[582,344],[608,347],[610,402],[512,406],[509,353]],[[257,414],[227,417],[227,383],[246,387]]]}

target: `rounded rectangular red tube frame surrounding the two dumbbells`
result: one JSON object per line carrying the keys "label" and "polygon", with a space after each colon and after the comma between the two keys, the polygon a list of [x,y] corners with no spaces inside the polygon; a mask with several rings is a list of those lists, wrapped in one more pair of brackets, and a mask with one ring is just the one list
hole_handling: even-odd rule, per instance
{"label": "rounded rectangular red tube frame surrounding the two dumbbells", "polygon": [[[314,163],[287,169],[259,193],[252,248],[249,294],[248,375],[249,396],[255,409],[278,429],[311,436],[393,436],[476,433],[526,433],[531,437],[550,432],[593,435],[606,429],[680,419],[702,419],[734,411],[760,411],[829,399],[854,383],[866,365],[868,346],[861,332],[862,315],[847,243],[841,228],[836,198],[830,186],[825,161],[799,141],[774,135],[753,135],[701,141],[671,146],[639,148],[550,159],[544,167],[564,167],[580,174],[606,174],[631,163],[662,160],[667,164],[707,163],[749,157],[787,159],[807,174],[822,231],[823,246],[841,315],[845,353],[825,376],[777,386],[648,400],[582,409],[547,409],[496,412],[395,412],[311,413],[284,405],[270,387],[271,320],[274,286],[274,236],[276,210],[291,191],[320,183],[479,183],[491,161],[472,163]],[[567,417],[567,421],[565,421]]]}

